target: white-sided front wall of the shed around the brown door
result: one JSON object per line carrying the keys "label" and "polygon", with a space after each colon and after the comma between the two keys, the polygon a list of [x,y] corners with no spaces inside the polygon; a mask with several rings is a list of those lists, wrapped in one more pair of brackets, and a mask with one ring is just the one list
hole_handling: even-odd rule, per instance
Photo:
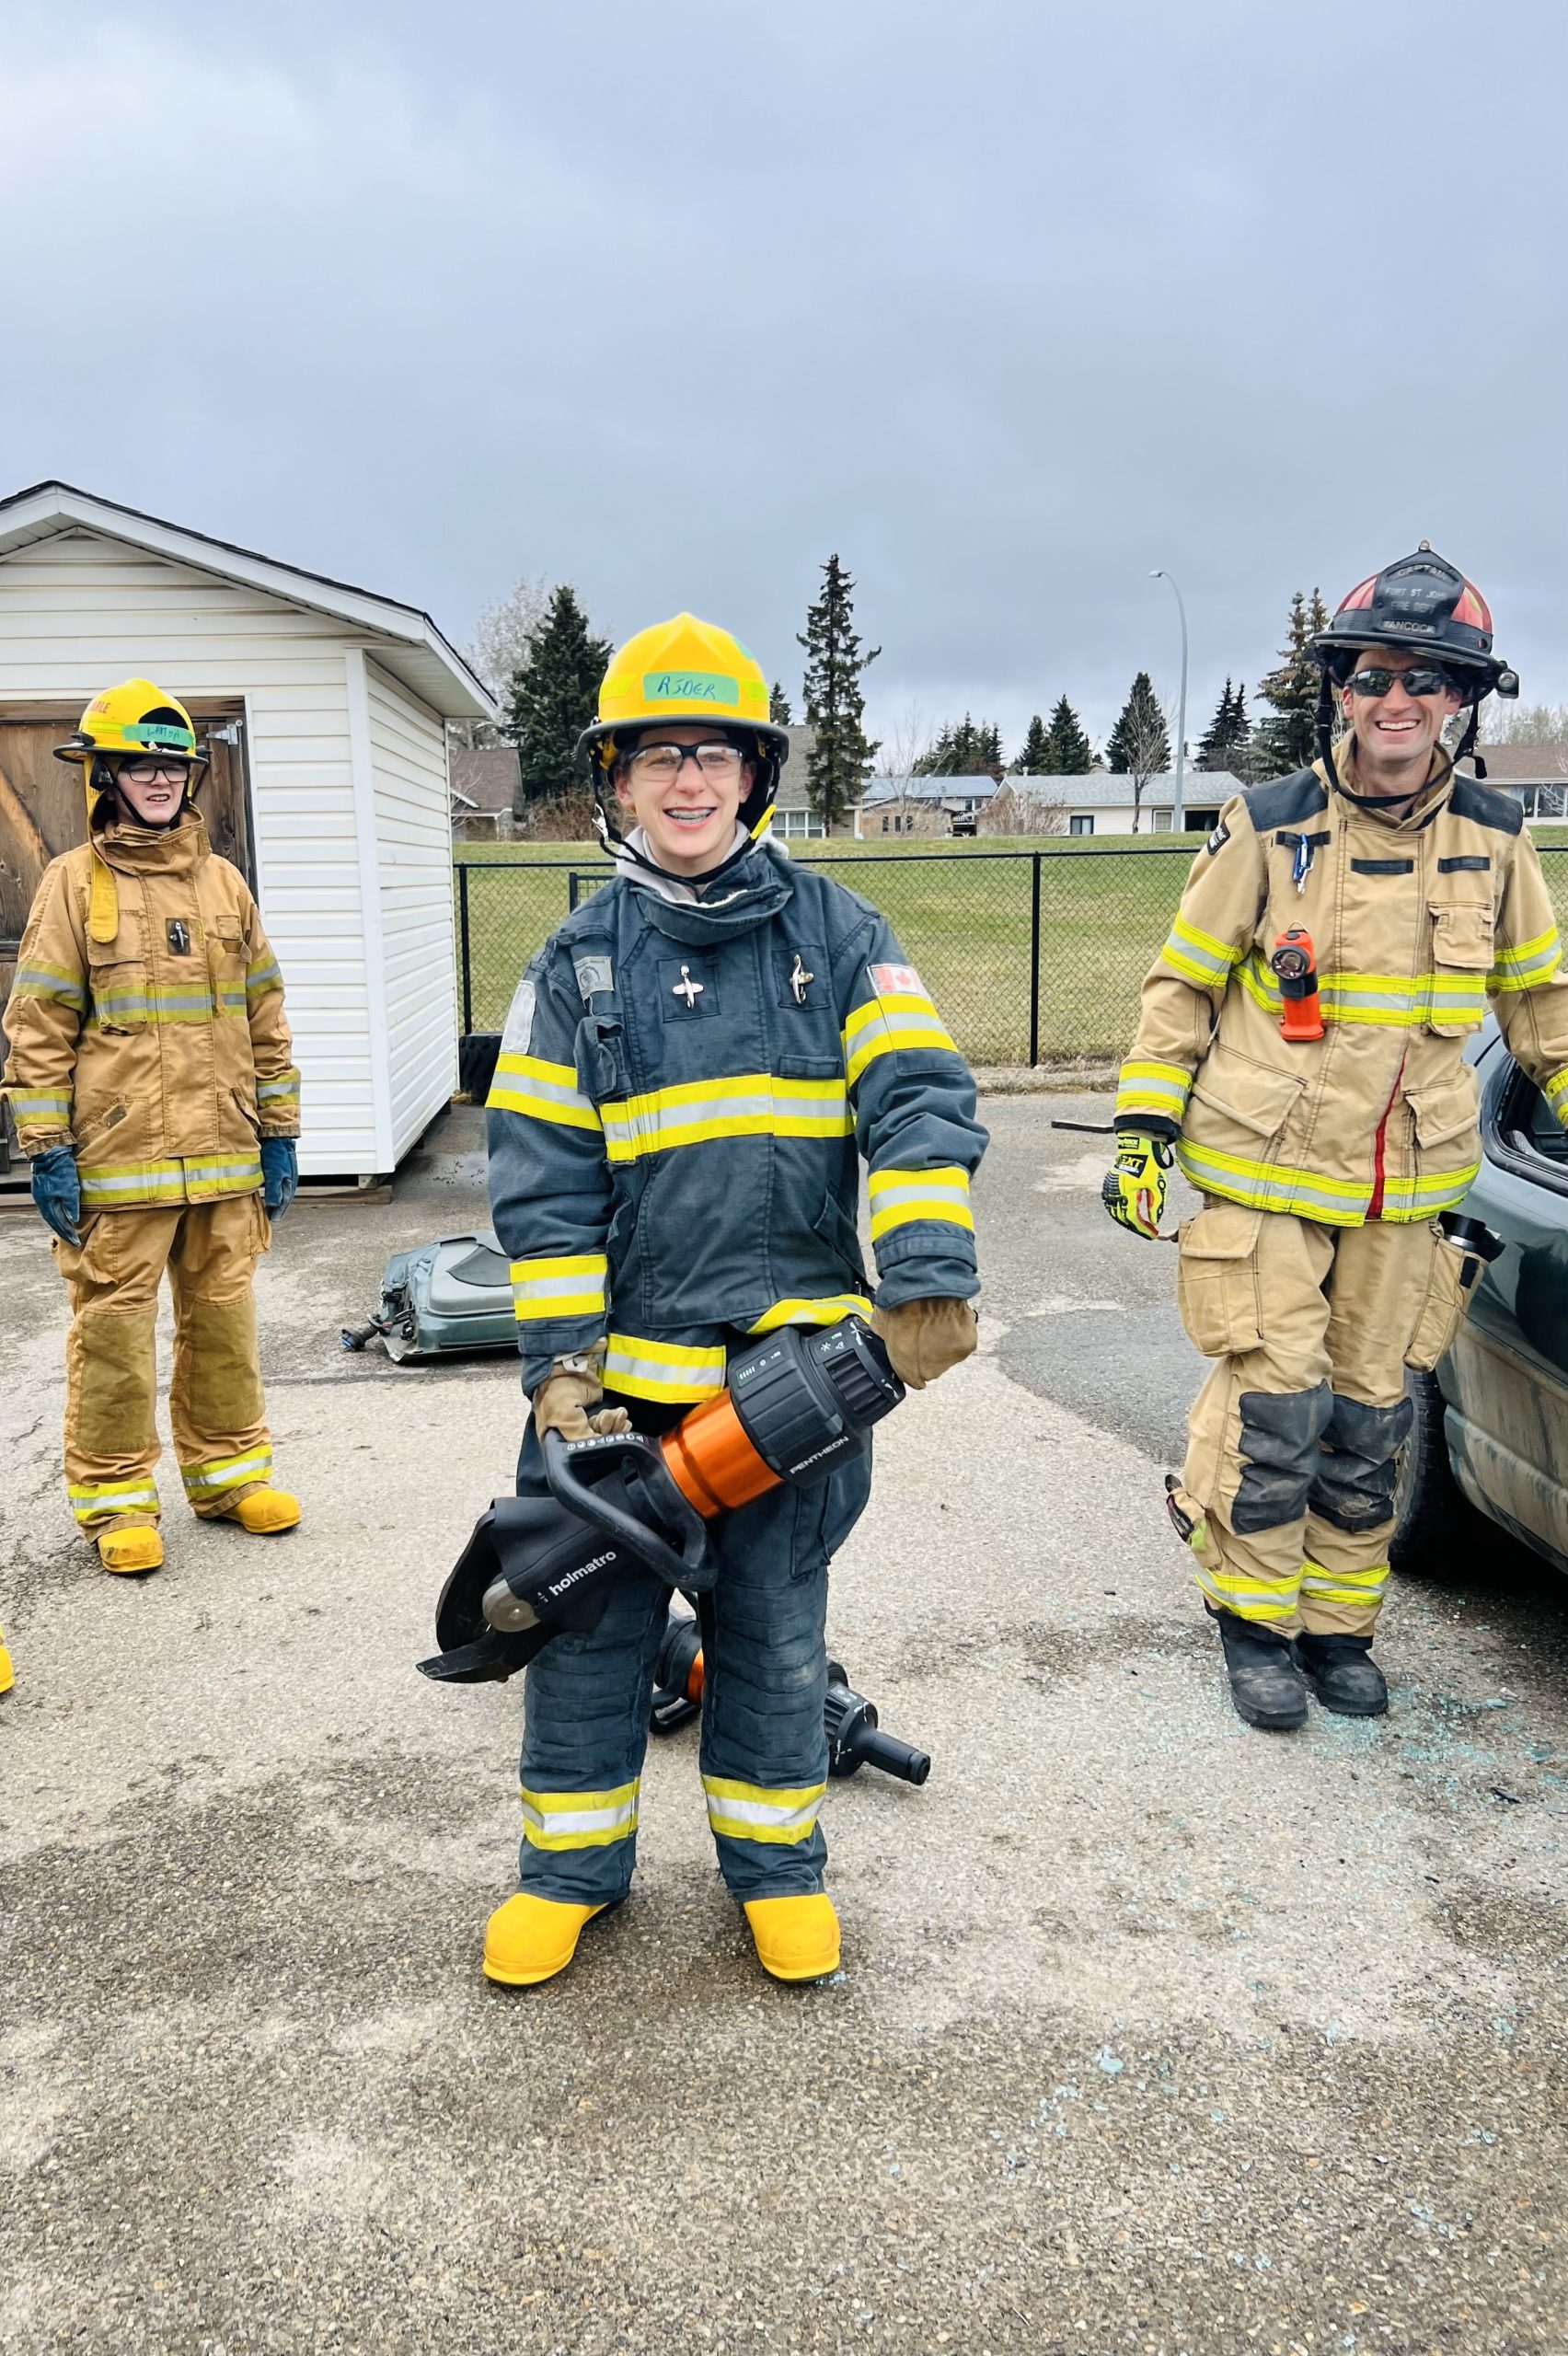
{"label": "white-sided front wall of the shed around the brown door", "polygon": [[311,1176],[388,1166],[344,660],[360,641],[327,615],[87,530],[0,561],[0,697],[87,702],[137,671],[181,697],[245,697],[261,921],[287,990]]}

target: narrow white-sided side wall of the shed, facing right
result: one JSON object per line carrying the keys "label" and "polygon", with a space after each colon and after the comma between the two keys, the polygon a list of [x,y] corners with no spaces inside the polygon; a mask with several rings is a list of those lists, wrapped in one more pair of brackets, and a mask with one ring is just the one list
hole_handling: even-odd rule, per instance
{"label": "narrow white-sided side wall of the shed, facing right", "polygon": [[445,726],[365,664],[381,886],[393,1159],[457,1086],[457,952]]}

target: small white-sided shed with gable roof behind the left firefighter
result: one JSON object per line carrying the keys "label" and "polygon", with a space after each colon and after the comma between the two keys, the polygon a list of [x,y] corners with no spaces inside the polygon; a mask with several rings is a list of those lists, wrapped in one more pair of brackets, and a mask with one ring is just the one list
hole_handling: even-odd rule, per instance
{"label": "small white-sided shed with gable roof behind the left firefighter", "polygon": [[0,992],[82,832],[49,747],[132,674],[212,740],[202,810],[283,966],[301,1171],[396,1169],[457,1084],[445,721],[494,719],[487,688],[396,598],[68,483],[0,499]]}

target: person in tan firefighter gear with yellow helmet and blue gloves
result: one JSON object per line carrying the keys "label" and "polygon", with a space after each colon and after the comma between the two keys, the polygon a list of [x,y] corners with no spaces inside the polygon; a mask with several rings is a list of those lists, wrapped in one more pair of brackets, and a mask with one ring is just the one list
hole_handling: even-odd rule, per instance
{"label": "person in tan firefighter gear with yellow helmet and blue gloves", "polygon": [[38,886],[5,1008],[7,1096],[71,1296],[66,1484],[108,1571],[158,1536],[158,1284],[174,1293],[170,1421],[191,1505],[292,1529],[271,1487],[252,1275],[287,1211],[299,1072],[283,980],[245,879],[191,806],[186,709],[148,679],[94,697],[87,841]]}

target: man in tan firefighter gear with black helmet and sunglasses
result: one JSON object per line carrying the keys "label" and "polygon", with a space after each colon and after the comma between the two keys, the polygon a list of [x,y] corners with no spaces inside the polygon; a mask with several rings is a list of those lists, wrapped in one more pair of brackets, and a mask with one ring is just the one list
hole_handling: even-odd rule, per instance
{"label": "man in tan firefighter gear with black helmet and sunglasses", "polygon": [[1330,1710],[1387,1708],[1370,1647],[1406,1366],[1436,1364],[1479,1272],[1446,1227],[1481,1164],[1464,1044],[1488,1006],[1568,1124],[1568,978],[1535,846],[1519,803],[1441,744],[1469,704],[1462,759],[1479,702],[1516,693],[1486,603],[1422,544],[1344,598],[1314,655],[1321,756],[1229,801],[1194,860],[1104,1187],[1142,1235],[1172,1147],[1203,1192],[1177,1293],[1215,1366],[1170,1510],[1257,1727],[1300,1727],[1307,1682]]}

